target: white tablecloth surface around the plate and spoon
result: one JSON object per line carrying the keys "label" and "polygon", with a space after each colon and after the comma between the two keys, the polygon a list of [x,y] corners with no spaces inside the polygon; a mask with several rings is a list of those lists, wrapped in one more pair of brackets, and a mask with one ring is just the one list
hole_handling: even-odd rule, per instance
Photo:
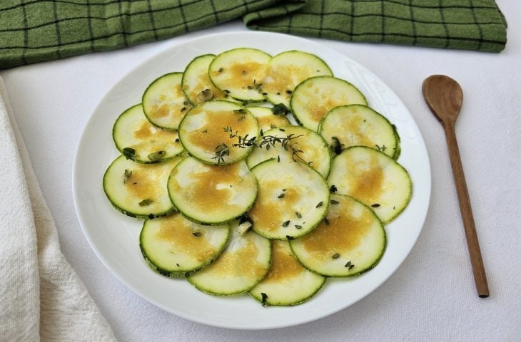
{"label": "white tablecloth surface around the plate and spoon", "polygon": [[[313,39],[362,63],[403,100],[427,145],[432,195],[423,231],[393,276],[336,314],[263,331],[215,328],[149,304],[121,284],[89,246],[74,210],[76,145],[103,95],[147,58],[240,21],[133,48],[0,71],[61,249],[120,341],[520,341],[521,3],[497,1],[509,21],[500,54]],[[442,73],[462,86],[456,134],[490,297],[475,292],[442,127],[421,95]]]}

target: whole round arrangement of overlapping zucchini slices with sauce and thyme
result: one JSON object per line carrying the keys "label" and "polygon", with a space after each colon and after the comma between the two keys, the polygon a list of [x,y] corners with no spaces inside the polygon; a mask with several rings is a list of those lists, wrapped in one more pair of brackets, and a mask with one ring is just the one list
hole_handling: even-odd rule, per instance
{"label": "whole round arrangement of overlapping zucchini slices with sauce and thyme", "polygon": [[412,195],[395,125],[305,51],[197,56],[144,89],[112,135],[103,190],[144,219],[143,263],[263,306],[373,269]]}

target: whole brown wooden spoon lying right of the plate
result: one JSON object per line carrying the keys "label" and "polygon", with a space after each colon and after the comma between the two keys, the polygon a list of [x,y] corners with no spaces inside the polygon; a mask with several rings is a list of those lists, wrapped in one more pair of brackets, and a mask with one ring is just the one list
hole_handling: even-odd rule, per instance
{"label": "whole brown wooden spoon lying right of the plate", "polygon": [[457,148],[455,135],[455,123],[463,102],[463,93],[456,81],[444,75],[433,75],[425,78],[422,91],[425,102],[445,130],[445,139],[447,140],[457,197],[460,201],[461,216],[463,227],[465,228],[465,236],[467,237],[467,246],[477,295],[481,298],[486,298],[489,296],[487,276],[485,275],[485,267],[481,259],[480,244],[477,241],[467,183],[465,182],[465,175],[463,175],[460,151]]}

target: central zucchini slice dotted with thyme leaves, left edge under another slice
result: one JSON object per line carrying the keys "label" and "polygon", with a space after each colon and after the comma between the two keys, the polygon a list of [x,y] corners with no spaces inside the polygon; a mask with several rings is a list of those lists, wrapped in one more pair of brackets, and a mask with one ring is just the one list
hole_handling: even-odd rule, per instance
{"label": "central zucchini slice dotted with thyme leaves, left edge under another slice", "polygon": [[252,172],[259,189],[248,216],[258,234],[269,239],[295,239],[308,234],[327,214],[328,185],[303,162],[266,160]]}

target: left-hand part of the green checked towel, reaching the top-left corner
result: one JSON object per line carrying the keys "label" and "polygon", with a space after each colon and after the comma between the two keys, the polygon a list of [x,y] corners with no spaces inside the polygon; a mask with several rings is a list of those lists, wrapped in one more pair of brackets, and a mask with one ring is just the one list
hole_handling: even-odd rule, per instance
{"label": "left-hand part of the green checked towel, reaching the top-left corner", "polygon": [[158,41],[305,0],[0,0],[0,69]]}

